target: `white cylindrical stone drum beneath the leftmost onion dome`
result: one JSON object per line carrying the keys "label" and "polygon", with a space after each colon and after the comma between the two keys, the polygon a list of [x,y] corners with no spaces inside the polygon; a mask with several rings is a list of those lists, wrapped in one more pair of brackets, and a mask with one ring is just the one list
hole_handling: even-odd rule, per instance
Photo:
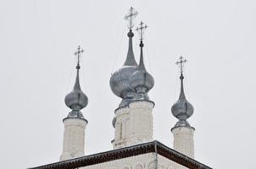
{"label": "white cylindrical stone drum beneath the leftmost onion dome", "polygon": [[80,118],[64,119],[63,152],[60,161],[84,155],[86,124],[87,122]]}

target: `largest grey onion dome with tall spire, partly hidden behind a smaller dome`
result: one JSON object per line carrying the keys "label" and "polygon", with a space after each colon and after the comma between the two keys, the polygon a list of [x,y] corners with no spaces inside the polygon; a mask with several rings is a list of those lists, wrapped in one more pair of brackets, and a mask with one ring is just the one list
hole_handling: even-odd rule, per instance
{"label": "largest grey onion dome with tall spire, partly hidden behind a smaller dome", "polygon": [[128,33],[129,48],[123,67],[114,72],[109,80],[109,85],[114,95],[117,95],[121,98],[132,97],[132,95],[134,95],[135,93],[135,91],[131,89],[129,85],[129,79],[131,77],[131,74],[136,71],[137,67],[137,63],[132,49],[133,35],[134,34],[130,30],[130,32]]}

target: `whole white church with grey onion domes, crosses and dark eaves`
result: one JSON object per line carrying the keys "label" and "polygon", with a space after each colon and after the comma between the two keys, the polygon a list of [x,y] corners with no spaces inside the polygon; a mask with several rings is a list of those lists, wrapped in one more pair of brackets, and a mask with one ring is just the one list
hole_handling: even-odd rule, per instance
{"label": "whole white church with grey onion domes, crosses and dark eaves", "polygon": [[[70,108],[63,119],[63,151],[59,161],[51,164],[31,167],[34,169],[210,169],[211,167],[196,161],[194,157],[193,128],[187,121],[193,114],[192,104],[186,100],[183,89],[184,64],[180,57],[176,64],[180,68],[180,95],[171,112],[177,123],[171,128],[173,149],[153,139],[153,107],[149,91],[153,89],[154,79],[144,64],[144,33],[147,25],[140,23],[136,28],[140,35],[140,60],[137,62],[133,52],[134,19],[137,12],[130,8],[125,15],[128,21],[128,52],[125,63],[111,75],[109,85],[114,95],[120,97],[120,104],[114,110],[112,125],[114,139],[113,150],[85,155],[87,120],[81,110],[86,108],[88,98],[80,85],[80,57],[83,52],[79,46],[76,79],[74,89],[64,98]],[[110,116],[110,115],[109,115]],[[111,124],[109,124],[111,125]]]}

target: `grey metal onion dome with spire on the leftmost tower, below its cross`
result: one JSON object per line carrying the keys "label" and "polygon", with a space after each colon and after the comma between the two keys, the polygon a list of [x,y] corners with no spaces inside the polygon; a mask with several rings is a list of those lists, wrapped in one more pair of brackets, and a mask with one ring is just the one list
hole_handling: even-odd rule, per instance
{"label": "grey metal onion dome with spire on the leftmost tower, below its cross", "polygon": [[73,111],[80,111],[82,108],[86,107],[88,104],[88,98],[86,94],[84,94],[81,90],[79,83],[79,64],[76,66],[77,73],[75,79],[74,89],[70,92],[70,94],[65,96],[65,104],[69,106]]}

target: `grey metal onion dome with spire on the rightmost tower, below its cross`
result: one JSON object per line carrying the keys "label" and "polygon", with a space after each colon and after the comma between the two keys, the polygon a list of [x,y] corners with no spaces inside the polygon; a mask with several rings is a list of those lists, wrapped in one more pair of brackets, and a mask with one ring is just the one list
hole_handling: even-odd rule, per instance
{"label": "grey metal onion dome with spire on the rightmost tower, below its cross", "polygon": [[179,100],[171,107],[172,114],[179,119],[179,122],[175,124],[175,127],[190,127],[186,119],[191,117],[194,111],[192,104],[186,101],[186,96],[183,89],[183,74],[180,76],[181,79],[181,94]]}

